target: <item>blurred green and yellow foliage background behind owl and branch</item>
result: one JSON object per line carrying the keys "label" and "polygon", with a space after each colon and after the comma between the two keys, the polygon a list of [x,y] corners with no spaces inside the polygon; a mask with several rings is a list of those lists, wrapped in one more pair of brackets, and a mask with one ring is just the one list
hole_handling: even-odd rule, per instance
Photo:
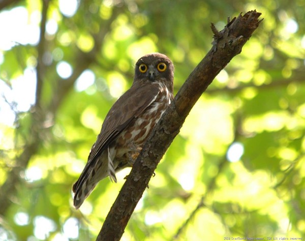
{"label": "blurred green and yellow foliage background behind owl and branch", "polygon": [[303,0],[0,1],[0,240],[95,240],[118,183],[80,210],[72,184],[139,57],[175,65],[175,93],[211,48],[210,22],[263,22],[194,106],[122,240],[305,238]]}

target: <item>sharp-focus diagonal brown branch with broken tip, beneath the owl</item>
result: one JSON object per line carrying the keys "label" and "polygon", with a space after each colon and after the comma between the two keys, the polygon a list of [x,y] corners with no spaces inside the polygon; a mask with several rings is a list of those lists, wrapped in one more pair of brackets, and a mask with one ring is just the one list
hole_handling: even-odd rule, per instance
{"label": "sharp-focus diagonal brown branch with broken tip, beneath the owl", "polygon": [[241,52],[259,26],[261,14],[256,11],[239,15],[218,32],[212,24],[212,48],[190,74],[169,108],[162,115],[153,133],[146,141],[125,184],[113,203],[96,240],[119,240],[142,197],[158,163],[174,137],[179,133],[185,118],[217,74]]}

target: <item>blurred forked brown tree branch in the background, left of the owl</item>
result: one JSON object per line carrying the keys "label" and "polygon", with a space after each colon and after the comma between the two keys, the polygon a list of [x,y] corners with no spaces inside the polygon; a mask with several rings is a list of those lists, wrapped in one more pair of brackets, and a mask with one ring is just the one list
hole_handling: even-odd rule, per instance
{"label": "blurred forked brown tree branch in the background, left of the owl", "polygon": [[[1,1],[1,0],[0,0]],[[12,167],[11,171],[8,173],[6,182],[0,187],[0,193],[6,193],[7,195],[0,195],[0,215],[5,214],[7,208],[12,202],[16,201],[15,195],[17,192],[17,187],[22,182],[20,177],[20,172],[23,171],[31,158],[36,155],[39,150],[39,146],[42,142],[42,133],[45,129],[44,122],[46,113],[51,116],[55,116],[60,104],[62,104],[66,94],[70,91],[75,83],[76,79],[80,74],[93,64],[96,60],[96,56],[103,44],[103,39],[110,29],[110,25],[118,14],[123,11],[123,8],[115,7],[112,12],[112,16],[105,22],[101,23],[100,32],[97,36],[94,36],[95,46],[92,51],[84,53],[79,50],[75,55],[75,68],[70,78],[63,80],[58,77],[56,81],[55,89],[53,90],[54,96],[52,102],[48,106],[42,106],[41,95],[43,92],[44,79],[46,78],[46,69],[43,63],[43,54],[45,52],[45,24],[47,20],[47,10],[49,0],[43,0],[42,6],[42,20],[40,27],[40,42],[37,46],[38,51],[38,64],[37,64],[37,89],[36,89],[36,104],[32,108],[31,118],[32,123],[29,127],[29,135],[26,137],[26,143],[23,146],[23,150],[19,156],[16,157],[16,166]]]}

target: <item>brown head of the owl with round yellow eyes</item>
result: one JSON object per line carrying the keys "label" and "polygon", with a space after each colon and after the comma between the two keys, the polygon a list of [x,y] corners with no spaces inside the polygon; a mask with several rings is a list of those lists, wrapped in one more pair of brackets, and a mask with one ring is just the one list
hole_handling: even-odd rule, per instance
{"label": "brown head of the owl with round yellow eyes", "polygon": [[170,59],[162,53],[149,53],[141,57],[135,67],[134,82],[163,82],[172,87],[174,66]]}

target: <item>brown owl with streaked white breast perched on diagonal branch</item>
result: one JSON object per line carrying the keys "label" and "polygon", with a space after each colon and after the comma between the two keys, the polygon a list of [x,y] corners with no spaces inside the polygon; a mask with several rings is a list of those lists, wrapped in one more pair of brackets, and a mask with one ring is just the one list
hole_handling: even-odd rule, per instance
{"label": "brown owl with streaked white breast perched on diagonal branch", "polygon": [[174,66],[161,53],[146,54],[136,63],[130,89],[109,110],[88,161],[73,185],[79,208],[97,183],[131,167],[161,115],[173,99]]}

